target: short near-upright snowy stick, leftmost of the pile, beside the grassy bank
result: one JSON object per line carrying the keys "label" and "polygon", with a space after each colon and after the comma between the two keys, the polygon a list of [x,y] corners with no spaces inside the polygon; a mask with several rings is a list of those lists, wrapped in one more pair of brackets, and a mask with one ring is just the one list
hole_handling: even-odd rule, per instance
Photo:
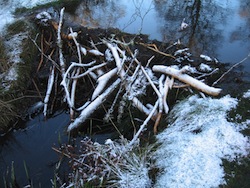
{"label": "short near-upright snowy stick, leftmost of the pile, beside the grassy bank", "polygon": [[43,101],[44,102],[44,108],[43,108],[44,117],[47,116],[48,102],[49,102],[49,97],[50,97],[50,94],[54,85],[54,79],[55,79],[55,66],[53,66],[51,73],[49,75],[47,91],[46,91],[46,95]]}

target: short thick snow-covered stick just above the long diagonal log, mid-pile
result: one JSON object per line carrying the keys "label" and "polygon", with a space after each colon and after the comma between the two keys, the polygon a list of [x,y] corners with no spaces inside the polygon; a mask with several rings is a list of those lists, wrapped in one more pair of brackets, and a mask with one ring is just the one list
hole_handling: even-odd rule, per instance
{"label": "short thick snow-covered stick just above the long diagonal log, mid-pile", "polygon": [[111,71],[107,72],[106,74],[102,75],[97,79],[97,87],[92,94],[91,100],[94,100],[104,89],[107,85],[108,81],[117,73],[117,68],[112,69]]}

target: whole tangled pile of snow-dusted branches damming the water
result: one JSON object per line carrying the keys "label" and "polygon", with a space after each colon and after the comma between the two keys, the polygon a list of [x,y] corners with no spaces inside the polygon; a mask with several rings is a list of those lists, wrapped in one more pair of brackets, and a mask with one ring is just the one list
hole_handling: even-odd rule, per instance
{"label": "whole tangled pile of snow-dusted branches damming the water", "polygon": [[[189,60],[188,49],[181,49],[173,54],[168,54],[160,51],[155,45],[145,44],[141,41],[136,42],[135,38],[126,42],[124,39],[116,38],[115,35],[111,35],[110,38],[101,38],[98,42],[90,40],[90,46],[86,46],[78,42],[79,33],[74,32],[72,28],[69,28],[68,34],[63,33],[63,14],[64,8],[60,12],[58,23],[52,21],[46,13],[42,13],[43,17],[41,15],[37,17],[42,17],[43,19],[40,20],[50,24],[55,29],[57,36],[56,51],[59,56],[57,61],[52,60],[50,55],[44,55],[52,62],[44,98],[44,116],[47,115],[51,91],[55,85],[55,77],[60,74],[60,85],[63,88],[65,101],[70,109],[72,119],[68,131],[82,125],[96,109],[103,105],[108,96],[116,92],[113,103],[107,112],[108,118],[112,114],[115,104],[119,102],[119,96],[122,100],[131,101],[134,107],[146,114],[146,119],[130,142],[130,145],[133,145],[150,119],[155,121],[154,131],[157,131],[162,114],[167,114],[169,111],[167,104],[169,90],[177,87],[176,83],[184,83],[185,87],[195,88],[207,95],[217,96],[221,92],[221,89],[210,87],[200,80],[210,76],[216,70],[206,70],[207,73],[201,73],[191,66],[163,65],[166,62],[151,65],[154,55],[148,58],[147,62],[141,62],[136,45],[143,46],[151,53],[167,57],[178,64],[181,58]],[[69,41],[71,41],[70,47],[76,49],[76,57],[74,61],[67,62],[64,45],[65,43],[69,44]],[[178,45],[178,42],[172,46],[175,45]],[[133,48],[133,51],[131,48]],[[91,57],[91,60],[86,57]],[[204,56],[203,58],[208,57]],[[197,78],[192,76],[197,74],[199,75]],[[91,91],[91,96],[87,100],[83,99],[86,97],[82,97],[82,103],[79,104],[78,101],[76,104],[76,95],[86,95],[77,92],[77,88],[86,83],[91,83],[93,88],[85,89],[88,92],[93,89],[93,92]],[[90,84],[86,84],[85,87],[89,86]],[[139,99],[139,96],[145,94],[147,88],[151,88],[155,93],[153,104],[144,104]]]}

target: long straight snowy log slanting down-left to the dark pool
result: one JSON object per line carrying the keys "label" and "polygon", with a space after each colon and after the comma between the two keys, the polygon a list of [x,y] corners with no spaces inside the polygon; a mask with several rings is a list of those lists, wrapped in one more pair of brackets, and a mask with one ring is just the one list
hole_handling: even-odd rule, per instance
{"label": "long straight snowy log slanting down-left to the dark pool", "polygon": [[115,88],[121,83],[121,79],[117,79],[108,89],[106,89],[101,95],[99,95],[94,101],[92,101],[86,108],[84,108],[79,115],[69,126],[67,131],[71,131],[74,128],[80,126],[101,104],[106,98],[115,90]]}

